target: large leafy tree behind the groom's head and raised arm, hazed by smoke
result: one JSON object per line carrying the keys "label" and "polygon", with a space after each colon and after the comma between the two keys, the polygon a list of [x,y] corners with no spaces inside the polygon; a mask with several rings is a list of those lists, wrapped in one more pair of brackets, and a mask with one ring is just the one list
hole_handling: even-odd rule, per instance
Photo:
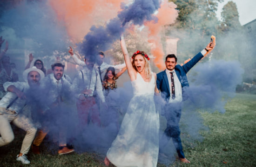
{"label": "large leafy tree behind the groom's head and raised arm, hazed by smoke", "polygon": [[[174,25],[166,26],[166,35],[179,38],[179,62],[194,56],[216,35],[220,22],[216,17],[218,2],[223,0],[171,0],[180,11]],[[205,61],[205,60],[204,60]]]}

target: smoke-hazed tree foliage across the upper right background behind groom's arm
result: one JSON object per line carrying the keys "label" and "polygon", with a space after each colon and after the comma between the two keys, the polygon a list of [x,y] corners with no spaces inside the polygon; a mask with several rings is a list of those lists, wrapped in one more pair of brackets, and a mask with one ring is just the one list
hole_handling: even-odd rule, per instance
{"label": "smoke-hazed tree foliage across the upper right background behind groom's arm", "polygon": [[[174,25],[166,26],[166,35],[179,38],[179,63],[194,56],[216,36],[216,48],[208,56],[224,60],[238,60],[245,70],[244,78],[256,71],[252,41],[239,22],[236,3],[229,1],[222,8],[222,20],[216,18],[218,3],[223,0],[171,0],[180,11]],[[243,41],[243,42],[242,42]],[[204,58],[202,61],[206,61]]]}

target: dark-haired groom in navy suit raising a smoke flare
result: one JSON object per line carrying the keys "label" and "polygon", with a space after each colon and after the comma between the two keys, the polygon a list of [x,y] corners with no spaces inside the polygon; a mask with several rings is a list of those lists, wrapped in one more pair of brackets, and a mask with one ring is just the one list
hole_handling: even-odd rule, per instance
{"label": "dark-haired groom in navy suit raising a smoke flare", "polygon": [[[205,49],[183,66],[177,65],[177,58],[174,54],[169,54],[165,59],[166,70],[157,74],[157,89],[161,91],[162,96],[164,96],[167,102],[164,106],[167,128],[162,136],[161,141],[163,142],[160,144],[159,152],[160,154],[162,153],[162,148],[164,148],[170,138],[172,138],[179,160],[184,163],[190,163],[190,161],[185,158],[182,150],[181,131],[179,128],[182,110],[181,102],[188,98],[188,91],[186,90],[188,90],[189,82],[186,74],[199,60],[212,51],[214,46],[215,40],[210,42]],[[165,137],[167,137],[167,139]]]}

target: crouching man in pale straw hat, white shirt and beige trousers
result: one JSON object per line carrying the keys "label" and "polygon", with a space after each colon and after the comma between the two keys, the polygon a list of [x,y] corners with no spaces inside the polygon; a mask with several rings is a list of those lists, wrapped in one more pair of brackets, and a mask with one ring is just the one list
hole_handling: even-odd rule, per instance
{"label": "crouching man in pale straw hat, white shirt and beige trousers", "polygon": [[6,82],[3,84],[7,94],[0,100],[0,147],[7,145],[14,139],[10,125],[12,122],[13,125],[27,132],[16,160],[23,164],[29,164],[30,161],[27,160],[25,154],[28,153],[37,128],[34,127],[29,118],[20,112],[26,105],[27,96],[32,92],[34,93],[32,89],[38,88],[40,79],[44,78],[44,73],[36,67],[32,67],[23,72],[23,78],[26,82]]}

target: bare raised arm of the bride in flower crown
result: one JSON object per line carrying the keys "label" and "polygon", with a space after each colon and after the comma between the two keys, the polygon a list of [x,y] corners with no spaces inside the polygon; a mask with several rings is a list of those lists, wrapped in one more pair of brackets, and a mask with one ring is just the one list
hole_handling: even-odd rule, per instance
{"label": "bare raised arm of the bride in flower crown", "polygon": [[137,76],[136,75],[137,71],[135,71],[135,69],[133,68],[133,65],[131,63],[131,59],[129,57],[129,54],[128,54],[128,51],[126,48],[126,44],[125,44],[123,35],[120,38],[120,44],[121,44],[121,49],[122,49],[123,56],[124,56],[124,61],[125,61],[126,67],[127,67],[128,75],[130,76],[131,81],[134,81]]}

